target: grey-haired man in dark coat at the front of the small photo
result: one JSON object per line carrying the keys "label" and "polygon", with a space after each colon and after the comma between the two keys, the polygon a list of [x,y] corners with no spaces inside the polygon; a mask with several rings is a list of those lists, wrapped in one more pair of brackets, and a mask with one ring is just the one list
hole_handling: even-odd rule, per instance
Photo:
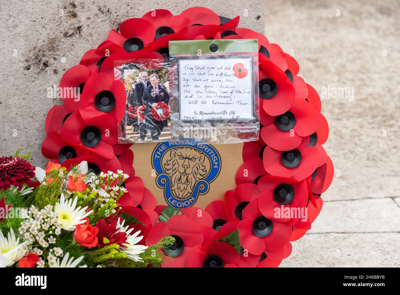
{"label": "grey-haired man in dark coat at the front of the small photo", "polygon": [[151,138],[158,140],[158,136],[164,127],[168,125],[167,120],[156,121],[150,113],[151,108],[156,108],[158,102],[164,102],[168,105],[170,95],[168,94],[165,86],[158,83],[158,76],[156,74],[150,75],[151,85],[146,87],[143,92],[143,103],[146,105],[146,125],[150,129]]}

